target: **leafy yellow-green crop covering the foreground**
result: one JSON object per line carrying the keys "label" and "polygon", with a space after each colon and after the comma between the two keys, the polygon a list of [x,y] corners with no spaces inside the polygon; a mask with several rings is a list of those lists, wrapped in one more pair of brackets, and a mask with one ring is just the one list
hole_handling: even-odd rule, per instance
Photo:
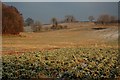
{"label": "leafy yellow-green crop covering the foreground", "polygon": [[64,48],[6,55],[3,57],[3,78],[116,78],[117,58],[118,50],[113,48]]}

